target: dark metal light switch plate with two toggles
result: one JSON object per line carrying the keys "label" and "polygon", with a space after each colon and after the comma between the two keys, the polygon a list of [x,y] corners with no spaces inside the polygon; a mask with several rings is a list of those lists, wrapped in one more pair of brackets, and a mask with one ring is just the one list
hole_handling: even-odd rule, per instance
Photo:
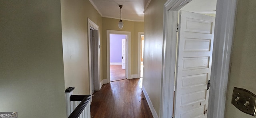
{"label": "dark metal light switch plate with two toggles", "polygon": [[256,95],[246,89],[234,87],[232,104],[246,114],[256,115]]}

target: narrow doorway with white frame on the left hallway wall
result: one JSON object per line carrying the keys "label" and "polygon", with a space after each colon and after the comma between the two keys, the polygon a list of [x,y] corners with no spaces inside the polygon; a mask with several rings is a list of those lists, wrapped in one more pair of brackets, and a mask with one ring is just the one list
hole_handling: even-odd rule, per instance
{"label": "narrow doorway with white frame on the left hallway wall", "polygon": [[100,90],[100,37],[99,27],[88,19],[88,49],[90,94]]}

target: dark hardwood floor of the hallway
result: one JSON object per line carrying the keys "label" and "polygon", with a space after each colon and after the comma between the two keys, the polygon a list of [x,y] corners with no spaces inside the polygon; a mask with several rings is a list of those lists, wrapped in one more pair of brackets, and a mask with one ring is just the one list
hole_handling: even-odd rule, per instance
{"label": "dark hardwood floor of the hallway", "polygon": [[142,79],[124,79],[92,94],[92,118],[153,118],[142,92]]}

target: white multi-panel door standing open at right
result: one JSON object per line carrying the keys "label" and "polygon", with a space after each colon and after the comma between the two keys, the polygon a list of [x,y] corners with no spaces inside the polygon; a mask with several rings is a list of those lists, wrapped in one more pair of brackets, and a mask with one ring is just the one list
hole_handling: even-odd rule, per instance
{"label": "white multi-panel door standing open at right", "polygon": [[181,11],[175,118],[207,118],[215,17]]}

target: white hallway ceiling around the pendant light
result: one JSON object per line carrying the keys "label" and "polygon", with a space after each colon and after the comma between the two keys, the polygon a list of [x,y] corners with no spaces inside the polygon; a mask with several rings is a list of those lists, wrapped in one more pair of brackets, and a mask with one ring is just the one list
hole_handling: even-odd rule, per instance
{"label": "white hallway ceiling around the pendant light", "polygon": [[149,0],[90,0],[102,17],[120,19],[122,5],[122,20],[144,21],[143,10]]}

